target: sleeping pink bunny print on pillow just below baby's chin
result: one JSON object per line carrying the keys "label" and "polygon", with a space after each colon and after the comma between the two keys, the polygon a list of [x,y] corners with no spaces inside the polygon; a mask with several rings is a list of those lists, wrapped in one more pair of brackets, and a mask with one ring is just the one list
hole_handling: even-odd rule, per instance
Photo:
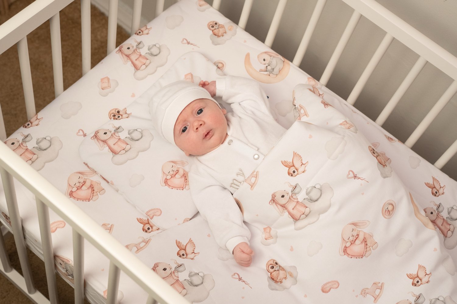
{"label": "sleeping pink bunny print on pillow just below baby's chin", "polygon": [[189,173],[180,166],[186,166],[185,160],[169,160],[162,165],[160,185],[170,189],[189,190]]}

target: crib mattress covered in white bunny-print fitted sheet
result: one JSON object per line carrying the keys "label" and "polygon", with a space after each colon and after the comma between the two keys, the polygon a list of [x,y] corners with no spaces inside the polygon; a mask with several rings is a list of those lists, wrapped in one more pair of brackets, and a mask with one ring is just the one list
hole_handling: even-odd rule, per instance
{"label": "crib mattress covered in white bunny-print fitted sheet", "polygon": [[[129,110],[129,105],[147,92],[148,88],[178,59],[185,61],[194,56],[185,55],[190,51],[199,52],[207,58],[207,61],[214,63],[214,74],[225,73],[258,80],[270,98],[271,107],[278,122],[286,128],[290,127],[295,120],[291,95],[293,88],[298,83],[313,84],[313,88],[319,94],[323,94],[325,101],[344,113],[370,140],[372,146],[383,152],[390,166],[416,199],[420,209],[432,207],[433,204],[430,201],[435,201],[441,203],[446,210],[451,208],[450,212],[452,211],[452,206],[455,204],[452,198],[457,197],[456,181],[416,155],[342,98],[310,78],[308,74],[272,52],[270,48],[237,27],[218,11],[205,5],[203,1],[182,0],[137,33],[141,35],[134,35],[125,41],[122,47],[108,55],[38,113],[36,118],[29,122],[30,127],[26,124],[12,134],[7,139],[7,143],[22,143],[21,157],[31,162],[33,168],[64,193],[72,192],[73,186],[69,183],[75,176],[83,175],[90,179],[91,189],[94,190],[83,193],[77,198],[74,196],[72,198],[74,203],[105,227],[107,233],[112,233],[132,252],[136,252],[149,267],[152,268],[156,262],[152,261],[147,254],[152,250],[152,247],[149,247],[150,242],[155,240],[154,237],[151,238],[152,234],[139,231],[140,224],[137,218],[150,218],[148,213],[150,209],[147,206],[136,206],[128,199],[125,191],[119,191],[115,187],[115,183],[110,178],[106,179],[104,176],[95,174],[94,171],[97,169],[92,168],[90,164],[85,164],[78,150],[83,140],[93,135],[91,132],[106,123],[112,109]],[[264,58],[271,61],[268,67],[260,63]],[[143,66],[145,66],[144,69]],[[194,74],[197,76],[198,72]],[[180,77],[185,76],[180,75]],[[128,115],[128,112],[125,115]],[[30,141],[31,138],[33,141]],[[32,148],[34,146],[32,143],[35,141],[36,147]],[[62,170],[62,168],[65,169]],[[364,176],[359,174],[351,172],[348,168],[347,178],[360,181],[363,185]],[[441,185],[446,185],[446,195],[435,197],[430,194],[431,188],[425,183],[433,184],[434,178],[439,180]],[[21,202],[19,211],[27,245],[38,256],[42,256],[34,197],[17,182],[15,186],[18,190],[18,201]],[[4,213],[0,220],[6,227],[10,227],[3,196],[0,209]],[[187,214],[190,215],[192,212],[189,210]],[[443,214],[446,216],[445,212]],[[176,225],[174,227],[170,225],[170,229],[182,229],[178,224],[187,222],[191,216],[182,217],[179,219],[176,217]],[[58,255],[56,264],[62,265],[58,267],[61,275],[71,282],[73,258],[71,229],[52,211],[50,219],[54,251]],[[201,217],[193,218],[188,224],[190,223],[197,225],[202,235],[207,236],[205,242],[199,242],[198,249],[202,250],[202,247],[207,246],[204,249],[205,252],[217,252],[215,243],[210,241],[212,238],[209,228],[205,226],[206,223]],[[134,232],[132,227],[135,227]],[[159,231],[162,230],[163,228]],[[159,236],[160,234],[157,234],[157,237]],[[194,241],[198,242],[196,239]],[[186,240],[183,239],[181,242]],[[149,248],[143,250],[146,246]],[[449,255],[453,265],[452,260],[457,260],[456,249],[449,251]],[[86,296],[93,303],[103,303],[103,297],[106,297],[109,264],[90,245],[86,246],[85,256]],[[230,258],[226,252],[220,252],[219,256],[223,259]],[[234,263],[234,261],[231,262]],[[236,268],[233,263],[232,267]],[[202,266],[201,269],[197,267],[194,271],[198,273],[204,269],[206,268]],[[233,278],[237,278],[236,273],[235,271]],[[241,277],[239,278],[241,287],[249,288],[247,283]],[[143,302],[147,298],[146,294],[123,274],[120,290],[122,303]],[[211,297],[207,301],[216,302]]]}

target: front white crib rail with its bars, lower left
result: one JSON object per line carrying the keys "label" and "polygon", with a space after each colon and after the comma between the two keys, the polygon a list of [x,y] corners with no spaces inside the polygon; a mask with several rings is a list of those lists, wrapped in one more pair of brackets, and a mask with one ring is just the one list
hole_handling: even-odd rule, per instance
{"label": "front white crib rail with its bars, lower left", "polygon": [[[108,282],[108,299],[107,303],[117,303],[117,287],[119,283],[120,271],[126,273],[135,282],[138,283],[149,294],[148,303],[159,301],[162,304],[185,304],[188,303],[180,294],[178,294],[168,283],[160,278],[156,273],[151,271],[137,257],[133,256],[127,248],[122,246],[114,237],[96,224],[87,214],[74,205],[63,193],[56,189],[51,183],[43,177],[30,165],[24,162],[5,144],[0,143],[0,172],[4,183],[5,196],[8,202],[8,210],[11,217],[11,225],[14,229],[15,240],[21,243],[25,248],[20,217],[17,210],[16,192],[12,183],[13,177],[21,184],[25,185],[35,196],[37,201],[37,210],[40,221],[40,232],[43,242],[43,252],[45,254],[45,265],[48,277],[48,284],[52,283],[54,277],[54,261],[52,241],[49,230],[48,208],[53,210],[67,224],[73,228],[74,242],[78,245],[74,249],[74,269],[83,269],[83,238],[89,241],[103,255],[110,259],[110,275]],[[11,207],[11,208],[10,208]],[[1,240],[0,240],[1,241]],[[27,269],[27,253],[21,251],[21,267],[26,276],[27,289],[30,294],[35,293],[33,287],[31,272]],[[2,256],[1,262],[3,269],[11,271],[8,263]],[[5,262],[5,263],[4,263]],[[80,263],[80,265],[78,265]],[[51,278],[49,278],[51,277]],[[75,299],[83,303],[83,278],[82,271],[74,273],[75,280]],[[29,279],[30,278],[30,279]],[[79,283],[78,283],[79,282]],[[58,303],[55,288],[50,287],[51,303]]]}

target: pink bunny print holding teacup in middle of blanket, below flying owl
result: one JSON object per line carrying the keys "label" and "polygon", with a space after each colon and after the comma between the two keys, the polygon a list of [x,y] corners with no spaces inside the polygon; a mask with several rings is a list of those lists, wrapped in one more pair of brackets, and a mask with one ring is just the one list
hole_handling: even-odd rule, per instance
{"label": "pink bunny print holding teacup in middle of blanket, below flying owl", "polygon": [[304,219],[310,212],[309,207],[298,201],[295,194],[292,193],[292,195],[290,195],[286,190],[278,190],[272,193],[269,204],[273,206],[281,216],[284,215],[284,211],[287,211],[289,217],[294,221]]}

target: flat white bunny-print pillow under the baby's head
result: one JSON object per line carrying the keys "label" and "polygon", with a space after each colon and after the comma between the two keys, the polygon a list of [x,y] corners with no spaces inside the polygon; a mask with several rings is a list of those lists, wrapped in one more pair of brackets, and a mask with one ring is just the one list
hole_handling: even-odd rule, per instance
{"label": "flat white bunny-print pillow under the baby's head", "polygon": [[154,129],[149,100],[159,88],[177,80],[197,84],[200,80],[215,80],[222,73],[216,70],[200,53],[182,55],[127,108],[111,109],[110,119],[87,133],[80,145],[81,159],[144,212],[144,217],[137,219],[144,232],[179,225],[198,212],[189,191],[192,157]]}

